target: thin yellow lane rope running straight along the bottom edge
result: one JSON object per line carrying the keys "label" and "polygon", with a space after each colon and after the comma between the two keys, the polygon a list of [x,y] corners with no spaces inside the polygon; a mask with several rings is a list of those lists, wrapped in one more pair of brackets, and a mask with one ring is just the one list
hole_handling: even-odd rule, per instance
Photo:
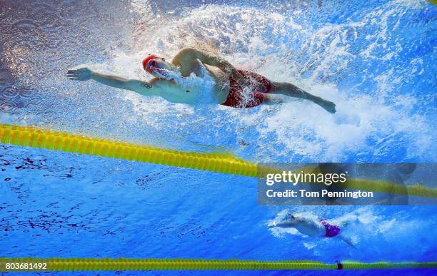
{"label": "thin yellow lane rope running straight along the bottom edge", "polygon": [[0,272],[36,271],[126,271],[126,270],[371,270],[437,268],[437,262],[316,262],[193,260],[193,259],[91,259],[91,258],[0,258]]}

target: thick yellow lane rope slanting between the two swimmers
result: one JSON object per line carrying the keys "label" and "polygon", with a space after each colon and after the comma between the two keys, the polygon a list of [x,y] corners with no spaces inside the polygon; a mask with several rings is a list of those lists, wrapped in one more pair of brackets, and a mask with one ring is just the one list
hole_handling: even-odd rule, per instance
{"label": "thick yellow lane rope slanting between the two swimmers", "polygon": [[[138,162],[169,165],[196,170],[208,170],[216,173],[230,173],[248,177],[265,175],[265,170],[279,172],[271,168],[263,168],[231,154],[196,153],[181,150],[153,148],[134,143],[115,140],[91,138],[70,133],[46,131],[28,126],[11,126],[0,124],[0,142],[11,145],[61,150],[69,153],[96,155],[119,158]],[[314,170],[303,168],[299,170]],[[258,171],[259,170],[259,171]],[[262,174],[263,173],[263,174]],[[424,198],[437,198],[437,189],[425,185],[397,185],[386,181],[348,179],[346,186],[336,183],[336,188],[350,188],[398,195],[412,195]]]}

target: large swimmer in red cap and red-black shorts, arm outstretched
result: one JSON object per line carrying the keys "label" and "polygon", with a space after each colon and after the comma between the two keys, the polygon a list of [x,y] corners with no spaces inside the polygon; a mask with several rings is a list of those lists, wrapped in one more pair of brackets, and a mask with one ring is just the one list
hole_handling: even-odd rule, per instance
{"label": "large swimmer in red cap and red-black shorts, arm outstretched", "polygon": [[[336,112],[336,105],[318,96],[313,96],[291,83],[268,80],[257,73],[234,68],[231,63],[196,48],[183,48],[171,63],[164,58],[149,55],[144,58],[143,68],[156,78],[150,81],[129,80],[119,76],[105,75],[89,68],[69,70],[71,80],[88,81],[90,79],[107,86],[135,91],[145,96],[161,96],[172,103],[205,103],[202,98],[211,98],[208,103],[221,104],[234,108],[252,108],[261,103],[282,103],[278,95],[302,98],[318,104],[330,113]],[[204,89],[190,86],[182,78],[211,77],[214,83],[211,94],[204,95]]]}

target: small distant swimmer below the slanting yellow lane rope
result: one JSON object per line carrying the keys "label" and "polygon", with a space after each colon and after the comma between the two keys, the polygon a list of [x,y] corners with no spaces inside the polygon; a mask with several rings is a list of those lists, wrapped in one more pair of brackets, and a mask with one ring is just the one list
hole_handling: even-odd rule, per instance
{"label": "small distant swimmer below the slanting yellow lane rope", "polygon": [[302,215],[287,213],[280,223],[273,223],[269,225],[268,228],[295,228],[303,235],[309,237],[338,237],[348,245],[356,248],[351,238],[346,237],[346,235],[343,235],[341,232],[349,223],[349,220],[344,220],[338,225],[334,225],[325,219],[316,220],[314,218],[306,218]]}

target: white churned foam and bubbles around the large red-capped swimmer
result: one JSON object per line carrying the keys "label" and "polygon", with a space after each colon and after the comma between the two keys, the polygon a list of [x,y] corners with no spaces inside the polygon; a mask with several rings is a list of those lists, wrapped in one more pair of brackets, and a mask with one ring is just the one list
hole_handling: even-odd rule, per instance
{"label": "white churned foam and bubbles around the large red-capped swimmer", "polygon": [[[279,106],[241,110],[192,108],[123,93],[145,128],[178,133],[181,143],[224,147],[261,161],[381,160],[387,158],[387,150],[399,147],[405,148],[403,158],[432,159],[433,126],[425,116],[415,113],[421,102],[412,95],[393,97],[403,81],[398,71],[387,69],[375,76],[363,76],[361,83],[375,86],[370,94],[359,90],[361,83],[347,89],[334,84],[337,78],[347,78],[353,72],[349,64],[357,58],[390,61],[395,57],[394,50],[375,56],[380,43],[375,39],[390,39],[390,19],[398,2],[403,3],[393,1],[388,11],[376,9],[360,21],[324,24],[318,29],[299,22],[311,16],[299,8],[287,16],[248,7],[202,6],[181,17],[161,16],[159,21],[147,21],[151,25],[134,34],[137,44],[133,51],[114,54],[106,69],[128,78],[147,79],[151,76],[144,73],[140,63],[147,54],[170,59],[182,46],[206,41],[236,67],[256,71],[273,81],[295,83],[333,101],[337,113],[331,115],[313,103],[295,99]],[[136,1],[133,6],[134,12],[147,19],[150,9],[147,1]],[[376,21],[380,17],[381,22]],[[366,34],[366,28],[377,31]],[[367,45],[358,44],[359,38],[368,39]],[[412,59],[411,68],[423,71],[423,61]],[[199,138],[194,133],[204,136]],[[176,138],[170,134],[169,139]]]}

